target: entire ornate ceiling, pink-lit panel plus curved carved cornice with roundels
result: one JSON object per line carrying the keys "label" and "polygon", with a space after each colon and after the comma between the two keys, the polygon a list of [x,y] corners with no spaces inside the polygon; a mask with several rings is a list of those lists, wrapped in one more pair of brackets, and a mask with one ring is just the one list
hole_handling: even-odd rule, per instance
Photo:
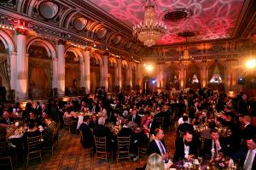
{"label": "entire ornate ceiling, pink-lit panel plus curved carved cornice with roundels", "polygon": [[194,37],[189,37],[189,53],[195,59],[210,54],[226,56],[239,44],[248,43],[240,39],[256,39],[255,0],[157,0],[157,19],[168,26],[169,33],[156,47],[145,48],[132,37],[132,26],[143,20],[143,2],[5,0],[0,2],[0,24],[26,26],[49,41],[65,40],[131,60],[177,59],[184,48],[184,38],[177,37],[181,31],[195,32]]}

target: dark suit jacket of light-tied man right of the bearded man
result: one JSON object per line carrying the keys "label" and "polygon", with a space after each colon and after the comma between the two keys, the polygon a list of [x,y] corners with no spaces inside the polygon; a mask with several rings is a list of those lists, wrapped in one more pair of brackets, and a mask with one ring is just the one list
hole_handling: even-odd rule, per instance
{"label": "dark suit jacket of light-tied man right of the bearded man", "polygon": [[[225,151],[224,147],[224,142],[222,140],[219,140],[220,146],[221,146],[221,150],[218,150],[218,152],[223,152]],[[206,139],[205,143],[204,143],[204,148],[202,150],[202,154],[204,157],[206,157],[207,159],[211,159],[212,157],[212,139]],[[225,153],[224,153],[225,155]]]}

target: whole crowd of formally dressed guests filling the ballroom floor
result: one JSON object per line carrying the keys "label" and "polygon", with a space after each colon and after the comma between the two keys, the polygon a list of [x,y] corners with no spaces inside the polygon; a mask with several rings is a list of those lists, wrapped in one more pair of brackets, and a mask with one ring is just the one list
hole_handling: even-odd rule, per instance
{"label": "whole crowd of formally dressed guests filling the ballroom floor", "polygon": [[[47,142],[48,135],[56,127],[55,122],[63,127],[65,118],[78,121],[77,112],[81,111],[90,112],[90,116],[84,116],[79,126],[84,148],[94,146],[93,135],[106,136],[108,150],[115,151],[117,136],[131,136],[131,156],[134,160],[137,160],[137,148],[148,146],[148,165],[143,167],[146,169],[160,162],[193,161],[199,156],[209,162],[229,156],[227,166],[240,160],[244,169],[255,167],[255,103],[248,100],[246,94],[230,99],[224,93],[207,88],[114,95],[99,90],[93,99],[85,96],[79,100],[71,98],[67,102],[49,100],[47,105],[32,102],[26,104],[24,111],[18,104],[9,108],[0,105],[0,115],[3,116],[0,127],[1,130],[14,127],[12,122],[22,119],[29,127],[26,135],[37,135],[35,127],[38,126],[49,129],[44,133],[44,141]],[[157,121],[159,117],[163,118],[163,122]],[[177,126],[177,137],[173,139],[175,151],[172,156],[164,142],[164,133],[173,125]],[[1,137],[3,139],[4,136]],[[155,161],[159,157],[162,161]]]}

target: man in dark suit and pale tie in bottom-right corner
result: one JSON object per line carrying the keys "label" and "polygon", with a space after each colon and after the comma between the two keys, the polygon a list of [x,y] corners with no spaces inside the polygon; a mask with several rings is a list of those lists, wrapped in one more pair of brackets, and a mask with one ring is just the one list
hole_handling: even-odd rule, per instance
{"label": "man in dark suit and pale tie in bottom-right corner", "polygon": [[229,167],[232,167],[234,161],[240,160],[242,169],[256,169],[256,136],[246,140],[247,148],[239,150],[231,156]]}

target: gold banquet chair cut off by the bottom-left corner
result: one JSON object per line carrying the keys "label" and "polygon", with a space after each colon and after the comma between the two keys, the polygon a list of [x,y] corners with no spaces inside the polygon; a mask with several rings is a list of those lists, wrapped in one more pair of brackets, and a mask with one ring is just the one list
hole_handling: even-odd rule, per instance
{"label": "gold banquet chair cut off by the bottom-left corner", "polygon": [[[9,150],[8,142],[0,143],[0,169],[6,169],[6,167],[11,167],[13,170],[13,162],[11,156],[6,156],[6,151]],[[5,168],[3,168],[5,167]]]}

